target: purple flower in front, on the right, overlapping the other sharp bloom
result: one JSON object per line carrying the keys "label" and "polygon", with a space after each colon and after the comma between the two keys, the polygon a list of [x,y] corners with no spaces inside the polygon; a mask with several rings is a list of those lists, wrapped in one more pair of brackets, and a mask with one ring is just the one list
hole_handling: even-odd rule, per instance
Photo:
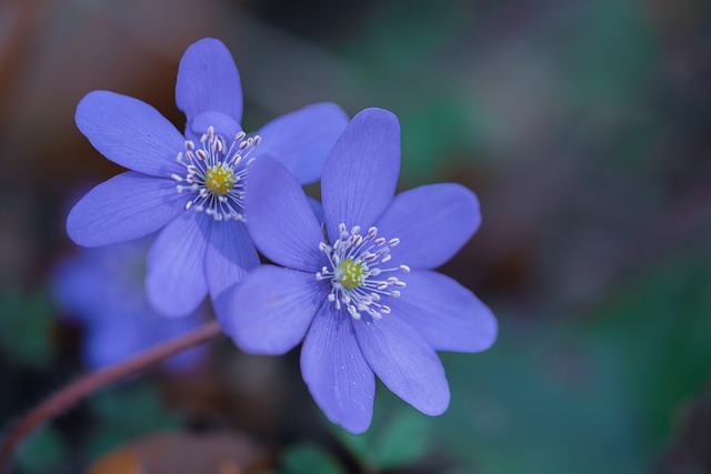
{"label": "purple flower in front, on the right, overlapping the other sharp bloom", "polygon": [[306,337],[301,371],[311,394],[354,433],[370,425],[373,373],[415,409],[438,415],[450,394],[435,351],[479,352],[497,336],[490,310],[431,270],[478,229],[477,198],[453,183],[395,196],[399,140],[390,112],[368,109],[353,118],[323,169],[323,228],[281,164],[257,162],[247,226],[282,266],[254,269],[224,293],[221,307],[228,334],[244,351],[282,354]]}

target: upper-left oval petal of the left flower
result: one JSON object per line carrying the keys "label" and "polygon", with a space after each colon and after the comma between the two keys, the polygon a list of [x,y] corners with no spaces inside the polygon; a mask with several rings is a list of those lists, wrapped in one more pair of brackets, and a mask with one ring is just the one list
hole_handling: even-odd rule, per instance
{"label": "upper-left oval petal of the left flower", "polygon": [[176,161],[184,138],[151,105],[108,91],[89,92],[77,105],[77,127],[114,163],[152,177],[184,174]]}

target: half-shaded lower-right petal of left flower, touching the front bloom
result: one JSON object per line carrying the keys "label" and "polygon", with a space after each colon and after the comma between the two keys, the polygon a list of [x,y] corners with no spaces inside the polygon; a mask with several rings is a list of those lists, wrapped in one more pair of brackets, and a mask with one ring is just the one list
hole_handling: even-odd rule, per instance
{"label": "half-shaded lower-right petal of left flower, touching the front bloom", "polygon": [[239,283],[259,265],[259,255],[242,222],[212,222],[204,260],[210,294],[214,299],[228,286]]}

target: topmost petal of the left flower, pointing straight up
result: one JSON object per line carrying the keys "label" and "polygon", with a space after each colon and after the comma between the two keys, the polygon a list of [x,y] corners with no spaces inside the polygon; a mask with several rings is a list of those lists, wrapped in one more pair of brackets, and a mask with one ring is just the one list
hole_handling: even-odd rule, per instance
{"label": "topmost petal of the left flower, pointing straight up", "polygon": [[242,87],[232,54],[213,38],[190,46],[180,60],[176,103],[188,123],[202,112],[223,112],[242,120]]}

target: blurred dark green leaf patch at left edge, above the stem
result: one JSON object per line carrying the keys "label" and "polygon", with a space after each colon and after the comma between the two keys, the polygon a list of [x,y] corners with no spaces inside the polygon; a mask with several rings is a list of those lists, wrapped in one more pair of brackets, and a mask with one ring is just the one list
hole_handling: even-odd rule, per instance
{"label": "blurred dark green leaf patch at left edge, above the stem", "polygon": [[54,323],[43,294],[0,290],[0,352],[12,365],[47,367],[56,351]]}

